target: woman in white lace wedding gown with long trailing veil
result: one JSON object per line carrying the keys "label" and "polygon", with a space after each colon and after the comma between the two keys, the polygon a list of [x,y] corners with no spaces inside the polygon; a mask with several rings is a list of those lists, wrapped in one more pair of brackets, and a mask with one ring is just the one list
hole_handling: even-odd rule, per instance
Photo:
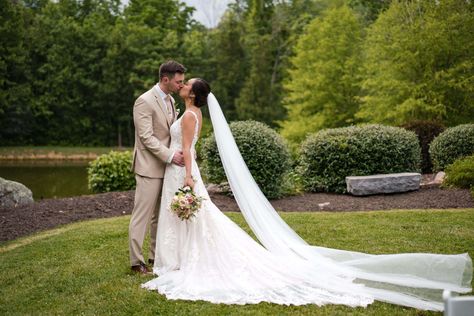
{"label": "woman in white lace wedding gown with long trailing veil", "polygon": [[[442,290],[471,291],[469,255],[370,255],[308,245],[278,215],[248,171],[209,85],[191,79],[180,91],[186,111],[171,126],[171,150],[185,167],[166,169],[158,221],[158,275],[142,285],[168,299],[212,303],[367,306],[374,300],[443,310]],[[211,201],[194,160],[209,106],[226,175],[259,244]],[[178,188],[189,185],[205,198],[197,216],[181,221],[169,211]]]}

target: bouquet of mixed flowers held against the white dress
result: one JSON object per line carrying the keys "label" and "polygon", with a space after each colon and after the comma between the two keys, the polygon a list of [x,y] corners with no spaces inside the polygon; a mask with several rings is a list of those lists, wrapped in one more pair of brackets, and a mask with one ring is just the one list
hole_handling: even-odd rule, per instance
{"label": "bouquet of mixed flowers held against the white dress", "polygon": [[189,186],[182,187],[174,194],[170,210],[182,221],[196,216],[201,208],[203,197],[198,196]]}

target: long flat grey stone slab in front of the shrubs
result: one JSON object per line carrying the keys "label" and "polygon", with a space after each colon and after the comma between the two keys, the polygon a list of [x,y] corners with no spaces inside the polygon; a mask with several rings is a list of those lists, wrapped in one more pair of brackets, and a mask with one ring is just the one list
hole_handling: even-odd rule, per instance
{"label": "long flat grey stone slab in front of the shrubs", "polygon": [[346,177],[347,191],[353,195],[398,193],[420,188],[421,174],[391,173]]}

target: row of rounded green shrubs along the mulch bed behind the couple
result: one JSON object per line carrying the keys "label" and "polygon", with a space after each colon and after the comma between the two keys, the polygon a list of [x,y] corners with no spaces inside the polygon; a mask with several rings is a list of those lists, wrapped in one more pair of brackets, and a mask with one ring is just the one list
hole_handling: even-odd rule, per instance
{"label": "row of rounded green shrubs along the mulch bed behind the couple", "polygon": [[[441,126],[427,123],[405,126],[417,133],[376,124],[326,129],[308,136],[296,161],[292,161],[288,145],[265,124],[234,122],[230,128],[250,172],[269,198],[287,193],[288,183],[299,182],[310,192],[344,193],[346,176],[420,172],[420,144],[426,147],[427,139],[442,130]],[[422,131],[423,128],[429,131]],[[425,135],[424,142],[420,135]],[[474,154],[474,124],[448,128],[434,138],[429,153],[435,170],[443,170],[456,159]],[[213,134],[203,140],[199,157],[209,182],[226,181]],[[130,152],[111,152],[92,162],[90,189],[93,192],[133,189],[131,158]]]}

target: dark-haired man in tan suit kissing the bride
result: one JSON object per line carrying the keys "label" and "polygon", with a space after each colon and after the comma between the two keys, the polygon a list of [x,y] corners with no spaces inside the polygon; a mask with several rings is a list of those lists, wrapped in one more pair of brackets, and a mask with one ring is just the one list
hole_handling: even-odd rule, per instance
{"label": "dark-haired man in tan suit kissing the bride", "polygon": [[183,65],[168,61],[160,66],[160,81],[142,94],[133,107],[135,148],[132,170],[137,187],[129,226],[130,265],[132,271],[149,274],[142,253],[143,240],[150,226],[148,263],[155,258],[156,230],[160,209],[161,189],[167,163],[184,166],[182,152],[173,152],[170,145],[170,126],[176,120],[174,99],[170,93],[184,85]]}

